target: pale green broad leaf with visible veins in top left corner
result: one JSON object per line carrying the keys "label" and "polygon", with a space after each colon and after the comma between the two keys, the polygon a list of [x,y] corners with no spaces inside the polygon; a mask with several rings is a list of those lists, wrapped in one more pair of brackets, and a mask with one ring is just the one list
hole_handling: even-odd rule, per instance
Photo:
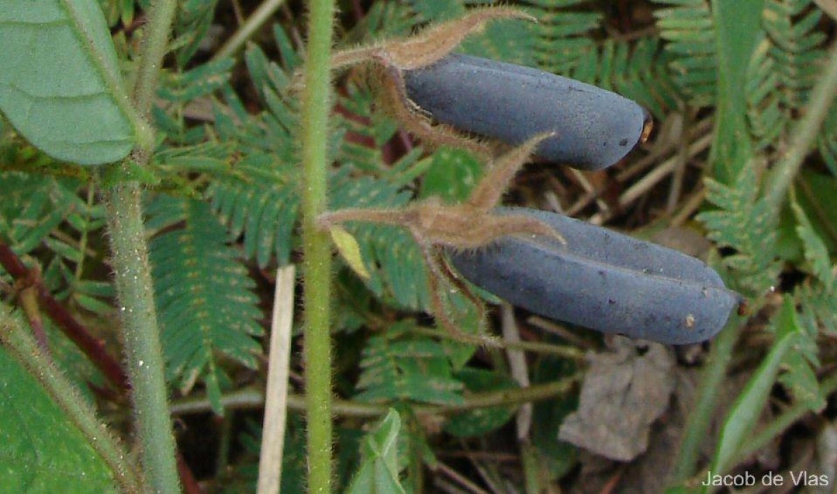
{"label": "pale green broad leaf with visible veins in top left corner", "polygon": [[95,0],[0,0],[0,47],[0,111],[49,156],[95,165],[150,141]]}

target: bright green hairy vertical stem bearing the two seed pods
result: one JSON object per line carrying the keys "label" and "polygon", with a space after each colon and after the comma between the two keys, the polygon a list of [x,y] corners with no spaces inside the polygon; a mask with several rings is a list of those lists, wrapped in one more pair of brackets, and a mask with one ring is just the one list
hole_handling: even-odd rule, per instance
{"label": "bright green hairy vertical stem bearing the two seed pods", "polygon": [[305,247],[305,361],[308,491],[331,492],[331,243],[316,228],[326,210],[333,0],[311,0],[302,93],[302,238]]}

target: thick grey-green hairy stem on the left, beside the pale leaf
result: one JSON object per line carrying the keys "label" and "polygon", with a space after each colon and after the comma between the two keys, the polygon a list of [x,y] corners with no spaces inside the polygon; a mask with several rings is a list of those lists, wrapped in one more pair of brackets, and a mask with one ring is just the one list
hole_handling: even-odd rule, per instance
{"label": "thick grey-green hairy stem on the left, beside the pale leaf", "polygon": [[[148,12],[133,94],[136,111],[146,120],[176,8],[176,0],[152,0]],[[146,165],[152,144],[150,140],[141,140],[130,159]],[[143,470],[154,491],[178,492],[180,482],[140,195],[140,185],[136,182],[118,183],[105,193],[111,261]]]}

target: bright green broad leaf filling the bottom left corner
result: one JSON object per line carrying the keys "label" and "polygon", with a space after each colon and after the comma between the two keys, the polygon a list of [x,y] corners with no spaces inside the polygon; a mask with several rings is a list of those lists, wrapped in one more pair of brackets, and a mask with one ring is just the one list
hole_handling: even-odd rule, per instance
{"label": "bright green broad leaf filling the bottom left corner", "polygon": [[0,465],[3,492],[116,492],[105,461],[3,347]]}

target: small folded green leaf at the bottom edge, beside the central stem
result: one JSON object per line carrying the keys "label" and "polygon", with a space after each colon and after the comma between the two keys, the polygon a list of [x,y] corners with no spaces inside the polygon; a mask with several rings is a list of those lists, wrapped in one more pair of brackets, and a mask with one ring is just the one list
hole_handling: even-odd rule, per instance
{"label": "small folded green leaf at the bottom edge, beside the central stem", "polygon": [[398,480],[398,432],[401,418],[390,409],[377,429],[362,442],[363,461],[349,487],[352,494],[404,491]]}

